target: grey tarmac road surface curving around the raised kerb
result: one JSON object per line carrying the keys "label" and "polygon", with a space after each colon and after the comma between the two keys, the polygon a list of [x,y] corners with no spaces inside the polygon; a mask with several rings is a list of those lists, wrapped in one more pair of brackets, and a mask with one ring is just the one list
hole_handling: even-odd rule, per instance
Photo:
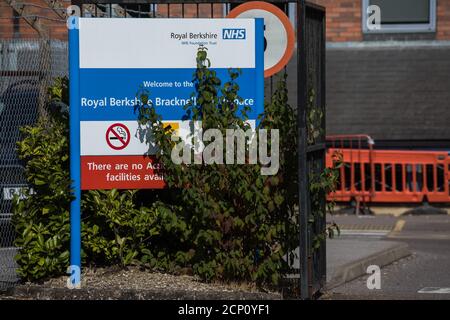
{"label": "grey tarmac road surface curving around the raised kerb", "polygon": [[[367,289],[368,275],[364,275],[330,290],[324,298],[450,299],[449,215],[333,216],[331,219],[342,226],[343,237],[347,239],[400,242],[408,245],[412,255],[382,268],[380,290]],[[385,231],[374,235],[371,232],[374,230]]]}

